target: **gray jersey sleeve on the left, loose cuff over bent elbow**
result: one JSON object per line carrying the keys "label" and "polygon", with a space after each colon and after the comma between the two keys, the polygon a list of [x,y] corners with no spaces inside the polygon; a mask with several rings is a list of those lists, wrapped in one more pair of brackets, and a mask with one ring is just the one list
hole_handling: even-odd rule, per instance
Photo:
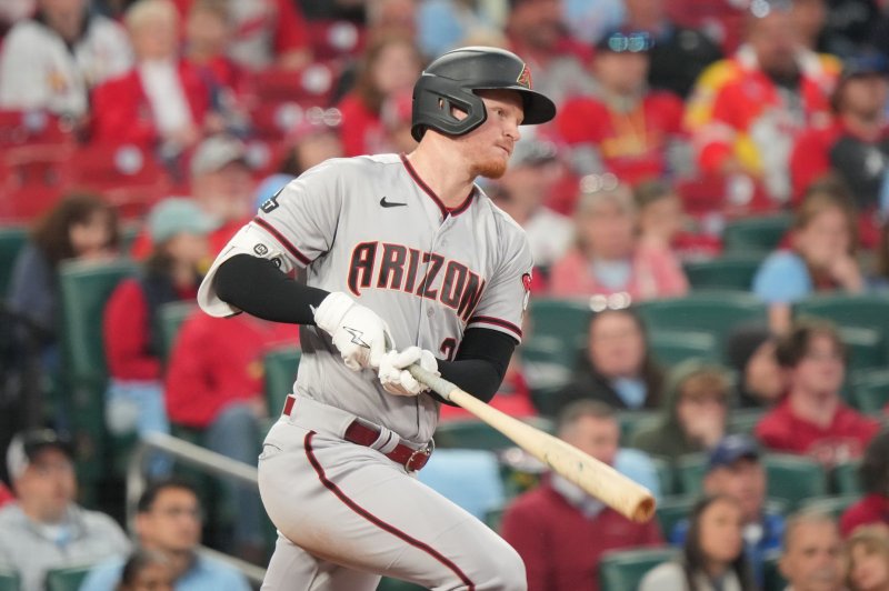
{"label": "gray jersey sleeve on the left, loose cuff over bent elbow", "polygon": [[213,317],[239,312],[219,299],[214,287],[219,267],[238,254],[268,259],[283,273],[308,267],[330,250],[341,207],[337,168],[330,162],[291,181],[229,240],[198,290],[198,304]]}

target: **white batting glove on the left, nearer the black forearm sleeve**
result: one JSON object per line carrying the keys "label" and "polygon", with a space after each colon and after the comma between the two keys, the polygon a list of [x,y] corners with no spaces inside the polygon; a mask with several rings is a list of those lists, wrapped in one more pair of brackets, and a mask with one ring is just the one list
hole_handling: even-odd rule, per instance
{"label": "white batting glove on the left, nearer the black forearm sleeve", "polygon": [[377,313],[341,291],[331,292],[314,309],[314,323],[330,334],[350,370],[377,369],[386,352],[389,327]]}

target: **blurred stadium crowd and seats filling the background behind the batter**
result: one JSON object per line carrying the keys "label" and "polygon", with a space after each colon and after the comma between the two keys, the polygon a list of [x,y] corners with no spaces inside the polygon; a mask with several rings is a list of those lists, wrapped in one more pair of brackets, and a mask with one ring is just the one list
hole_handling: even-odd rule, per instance
{"label": "blurred stadium crowd and seats filling the background behind the batter", "polygon": [[660,501],[498,448],[529,589],[889,590],[888,40],[886,0],[4,0],[0,577],[247,588],[194,549],[262,565],[256,491],[156,453],[122,523],[134,437],[254,464],[287,393],[297,331],[202,273],[303,171],[409,152],[424,64],[483,44],[558,104],[479,181],[536,260],[493,405]]}

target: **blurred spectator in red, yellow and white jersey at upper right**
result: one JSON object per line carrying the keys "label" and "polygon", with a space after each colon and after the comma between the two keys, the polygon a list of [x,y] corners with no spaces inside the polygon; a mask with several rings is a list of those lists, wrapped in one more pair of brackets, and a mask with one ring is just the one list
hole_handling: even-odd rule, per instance
{"label": "blurred spectator in red, yellow and white jersey at upper right", "polygon": [[797,137],[829,123],[835,58],[806,49],[787,0],[750,4],[746,43],[703,71],[688,104],[698,162],[708,174],[745,174],[771,198],[790,199],[788,164]]}

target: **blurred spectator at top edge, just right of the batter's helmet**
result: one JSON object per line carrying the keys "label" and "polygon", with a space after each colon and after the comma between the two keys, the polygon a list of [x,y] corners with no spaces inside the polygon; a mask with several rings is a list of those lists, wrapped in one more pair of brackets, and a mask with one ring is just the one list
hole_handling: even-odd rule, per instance
{"label": "blurred spectator at top edge, just right of the batter's helmet", "polygon": [[565,34],[562,0],[509,0],[509,6],[508,49],[528,63],[535,89],[557,106],[568,97],[591,93],[596,83],[582,61],[588,51]]}

